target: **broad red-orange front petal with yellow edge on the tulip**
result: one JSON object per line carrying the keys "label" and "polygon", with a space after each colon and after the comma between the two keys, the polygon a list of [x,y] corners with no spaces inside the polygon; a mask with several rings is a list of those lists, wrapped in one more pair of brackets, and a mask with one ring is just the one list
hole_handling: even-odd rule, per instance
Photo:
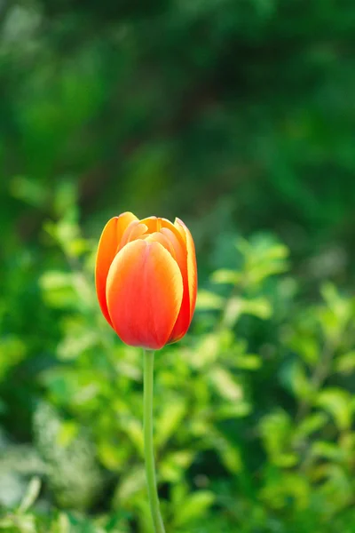
{"label": "broad red-orange front petal with yellow edge on the tulip", "polygon": [[116,255],[106,284],[108,312],[130,346],[166,345],[183,298],[177,262],[161,243],[138,239]]}

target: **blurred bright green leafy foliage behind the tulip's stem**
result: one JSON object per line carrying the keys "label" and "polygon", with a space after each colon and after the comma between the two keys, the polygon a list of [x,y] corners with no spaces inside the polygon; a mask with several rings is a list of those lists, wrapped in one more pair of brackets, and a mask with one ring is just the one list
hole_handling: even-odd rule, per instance
{"label": "blurred bright green leafy foliage behind the tulip's stem", "polygon": [[[3,499],[13,511],[0,526],[123,533],[136,524],[148,533],[142,358],[99,313],[92,243],[74,207],[75,195],[44,225],[46,246],[61,253],[37,280],[56,328],[50,357],[25,390],[34,439],[26,453],[4,441],[0,466],[16,490]],[[230,245],[235,267],[211,274],[193,330],[157,357],[155,443],[167,528],[330,533],[338,523],[346,530],[355,526],[355,402],[346,382],[355,300],[327,282],[306,303],[288,274],[287,247],[270,235]],[[26,350],[31,335],[3,339],[3,379],[15,390],[13,369],[36,364]],[[6,412],[6,394],[3,402]]]}

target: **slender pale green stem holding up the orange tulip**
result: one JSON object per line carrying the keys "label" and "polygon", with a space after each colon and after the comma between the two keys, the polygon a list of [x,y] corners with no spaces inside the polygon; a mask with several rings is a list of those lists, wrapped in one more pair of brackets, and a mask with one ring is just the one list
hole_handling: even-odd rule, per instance
{"label": "slender pale green stem holding up the orange tulip", "polygon": [[146,459],[146,485],[155,533],[165,533],[156,489],[153,442],[153,388],[154,352],[144,351],[144,441]]}

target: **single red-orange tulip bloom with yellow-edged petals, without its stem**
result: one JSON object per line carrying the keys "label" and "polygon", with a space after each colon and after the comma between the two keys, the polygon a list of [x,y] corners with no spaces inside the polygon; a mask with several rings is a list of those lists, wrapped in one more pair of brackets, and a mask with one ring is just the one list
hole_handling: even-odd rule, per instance
{"label": "single red-orange tulip bloom with yellow-edged petals, without its stem", "polygon": [[193,318],[193,237],[179,219],[132,213],[110,219],[99,241],[96,291],[106,321],[130,346],[158,350],[184,337]]}

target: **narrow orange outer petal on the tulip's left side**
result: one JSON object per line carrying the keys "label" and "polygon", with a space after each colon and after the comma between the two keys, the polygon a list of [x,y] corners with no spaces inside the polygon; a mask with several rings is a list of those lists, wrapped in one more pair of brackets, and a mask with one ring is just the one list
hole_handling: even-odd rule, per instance
{"label": "narrow orange outer petal on the tulip's left side", "polygon": [[137,220],[137,217],[130,212],[122,213],[119,217],[108,220],[99,240],[95,266],[96,292],[101,311],[111,326],[112,322],[106,305],[106,278],[122,235],[132,220]]}

